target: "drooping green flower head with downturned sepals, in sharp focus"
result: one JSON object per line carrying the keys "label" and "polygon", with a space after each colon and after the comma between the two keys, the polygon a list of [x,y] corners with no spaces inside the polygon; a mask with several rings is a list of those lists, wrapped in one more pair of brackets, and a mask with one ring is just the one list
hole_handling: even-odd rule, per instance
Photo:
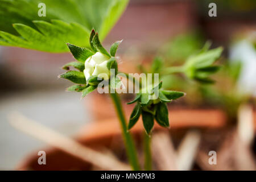
{"label": "drooping green flower head with downturned sepals, in sharp focus", "polygon": [[[133,112],[130,115],[128,130],[137,123],[142,115],[143,126],[148,135],[154,126],[154,118],[162,127],[169,127],[167,102],[184,96],[185,93],[162,89],[162,82],[154,88],[144,88],[137,94],[135,99],[127,104],[136,102]],[[148,92],[148,90],[150,92]]]}

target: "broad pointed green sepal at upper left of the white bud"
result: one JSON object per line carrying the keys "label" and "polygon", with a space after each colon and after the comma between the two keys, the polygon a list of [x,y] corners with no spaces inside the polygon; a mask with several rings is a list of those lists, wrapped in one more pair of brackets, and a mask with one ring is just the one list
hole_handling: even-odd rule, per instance
{"label": "broad pointed green sepal at upper left of the white bud", "polygon": [[88,48],[78,47],[69,43],[67,45],[75,59],[82,63],[84,63],[88,57],[94,55],[94,53]]}

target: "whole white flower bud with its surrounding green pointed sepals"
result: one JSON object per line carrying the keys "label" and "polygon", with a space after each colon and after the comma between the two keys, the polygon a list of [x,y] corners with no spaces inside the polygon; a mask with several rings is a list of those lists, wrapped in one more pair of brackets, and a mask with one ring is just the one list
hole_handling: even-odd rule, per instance
{"label": "whole white flower bud with its surrounding green pointed sepals", "polygon": [[69,87],[68,90],[82,92],[82,97],[96,89],[102,80],[109,81],[111,69],[117,73],[115,52],[122,41],[115,42],[108,53],[101,45],[98,33],[92,30],[89,42],[90,49],[67,44],[77,61],[65,64],[63,69],[74,67],[78,71],[68,71],[59,76],[79,84]]}

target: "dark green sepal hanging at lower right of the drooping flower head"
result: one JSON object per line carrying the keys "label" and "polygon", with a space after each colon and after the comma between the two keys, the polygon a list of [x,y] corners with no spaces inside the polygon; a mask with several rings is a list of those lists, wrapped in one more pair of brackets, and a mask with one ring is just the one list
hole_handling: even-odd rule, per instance
{"label": "dark green sepal hanging at lower right of the drooping flower head", "polygon": [[169,127],[169,118],[168,118],[168,108],[167,105],[165,103],[159,103],[156,106],[156,114],[155,114],[155,119],[156,122],[158,122],[158,124],[160,126],[163,127]]}

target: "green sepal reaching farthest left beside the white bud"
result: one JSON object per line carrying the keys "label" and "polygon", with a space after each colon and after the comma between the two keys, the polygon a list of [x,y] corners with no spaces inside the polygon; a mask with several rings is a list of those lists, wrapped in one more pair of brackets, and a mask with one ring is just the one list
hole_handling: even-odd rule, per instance
{"label": "green sepal reaching farthest left beside the white bud", "polygon": [[59,76],[60,78],[68,79],[76,84],[86,84],[84,73],[77,71],[68,71]]}

